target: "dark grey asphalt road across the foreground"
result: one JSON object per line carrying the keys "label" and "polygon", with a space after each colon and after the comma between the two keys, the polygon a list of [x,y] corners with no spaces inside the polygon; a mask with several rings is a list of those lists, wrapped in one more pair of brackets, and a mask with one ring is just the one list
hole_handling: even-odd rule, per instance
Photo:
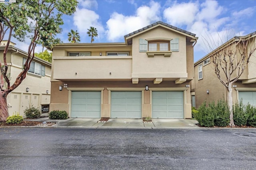
{"label": "dark grey asphalt road across the foreground", "polygon": [[0,128],[2,170],[254,170],[255,129]]}

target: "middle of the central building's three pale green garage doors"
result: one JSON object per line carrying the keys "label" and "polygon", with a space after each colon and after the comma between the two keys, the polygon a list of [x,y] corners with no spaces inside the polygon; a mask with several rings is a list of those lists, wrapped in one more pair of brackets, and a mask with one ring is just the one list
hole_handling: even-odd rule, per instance
{"label": "middle of the central building's three pale green garage doors", "polygon": [[141,92],[111,92],[112,118],[141,118]]}

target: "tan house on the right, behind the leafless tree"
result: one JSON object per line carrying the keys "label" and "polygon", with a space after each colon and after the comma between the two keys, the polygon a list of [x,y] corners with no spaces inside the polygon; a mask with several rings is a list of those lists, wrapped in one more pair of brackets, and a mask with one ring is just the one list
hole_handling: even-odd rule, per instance
{"label": "tan house on the right, behind the leafless tree", "polygon": [[[256,32],[250,33],[246,36],[236,36],[224,43],[218,49],[221,47],[226,47],[226,45],[235,45],[241,38],[246,38],[250,39],[250,45],[248,45],[247,49],[247,51],[250,51],[250,48],[256,47],[255,37]],[[204,100],[206,100],[206,102],[212,102],[222,99],[223,97],[224,99],[227,98],[226,87],[220,82],[214,73],[214,67],[212,65],[210,54],[211,53],[194,63],[195,84],[192,86],[195,92],[192,92],[191,94],[192,98],[195,98],[192,103],[196,103],[196,107],[199,107]],[[234,72],[234,76],[236,75],[237,72]],[[240,76],[238,81],[233,84],[232,98],[233,102],[242,100],[244,104],[250,103],[256,106],[256,51],[254,51],[250,57],[250,62],[246,66],[243,74]]]}

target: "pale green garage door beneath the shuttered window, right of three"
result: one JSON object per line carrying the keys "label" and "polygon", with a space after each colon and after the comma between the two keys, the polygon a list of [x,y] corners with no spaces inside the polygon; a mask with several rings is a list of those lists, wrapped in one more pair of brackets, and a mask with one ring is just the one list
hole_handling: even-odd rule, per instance
{"label": "pale green garage door beneath the shuttered window, right of three", "polygon": [[184,119],[182,91],[152,92],[152,118]]}

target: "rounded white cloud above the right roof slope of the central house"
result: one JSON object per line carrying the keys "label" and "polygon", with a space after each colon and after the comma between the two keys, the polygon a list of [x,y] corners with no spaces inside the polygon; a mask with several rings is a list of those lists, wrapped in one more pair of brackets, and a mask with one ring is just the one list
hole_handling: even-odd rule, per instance
{"label": "rounded white cloud above the right roof slope of the central house", "polygon": [[190,25],[198,12],[198,3],[173,4],[164,10],[164,18],[174,26]]}

